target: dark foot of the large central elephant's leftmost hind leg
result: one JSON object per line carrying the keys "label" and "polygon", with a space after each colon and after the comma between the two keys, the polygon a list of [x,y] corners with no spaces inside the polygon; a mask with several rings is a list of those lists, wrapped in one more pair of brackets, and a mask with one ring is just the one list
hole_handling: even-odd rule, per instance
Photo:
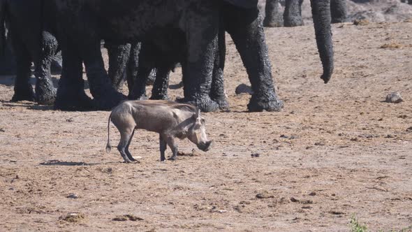
{"label": "dark foot of the large central elephant's leftmost hind leg", "polygon": [[54,102],[55,110],[64,111],[87,111],[94,110],[93,101],[84,92],[77,94],[70,93],[68,89],[67,94],[61,93],[61,89],[57,90],[56,101]]}

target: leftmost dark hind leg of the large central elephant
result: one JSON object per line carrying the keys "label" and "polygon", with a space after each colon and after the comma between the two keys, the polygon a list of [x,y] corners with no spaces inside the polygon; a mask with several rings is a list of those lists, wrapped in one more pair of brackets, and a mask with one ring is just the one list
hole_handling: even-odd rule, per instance
{"label": "leftmost dark hind leg of the large central elephant", "polygon": [[63,69],[54,108],[58,110],[91,110],[93,103],[84,92],[82,59],[73,44],[62,45]]}

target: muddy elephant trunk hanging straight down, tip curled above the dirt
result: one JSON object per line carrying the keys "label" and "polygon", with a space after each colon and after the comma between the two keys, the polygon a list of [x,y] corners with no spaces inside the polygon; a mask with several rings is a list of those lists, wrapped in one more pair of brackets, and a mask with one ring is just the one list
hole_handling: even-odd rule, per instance
{"label": "muddy elephant trunk hanging straight down, tip curled above the dirt", "polygon": [[312,17],[318,45],[319,56],[323,65],[321,79],[326,83],[333,73],[333,45],[330,28],[330,0],[311,0]]}

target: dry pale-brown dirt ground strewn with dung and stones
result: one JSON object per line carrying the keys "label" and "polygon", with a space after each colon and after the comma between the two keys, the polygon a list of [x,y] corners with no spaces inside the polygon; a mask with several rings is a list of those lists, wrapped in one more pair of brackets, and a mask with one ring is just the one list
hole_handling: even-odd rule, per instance
{"label": "dry pale-brown dirt ground strewn with dung and stones", "polygon": [[[348,231],[353,214],[371,231],[411,231],[412,22],[335,24],[328,85],[311,27],[266,33],[284,110],[246,112],[228,36],[231,111],[205,113],[212,150],[182,140],[177,161],[138,131],[140,162],[123,164],[105,153],[109,112],[12,103],[13,78],[0,78],[0,231]],[[383,102],[395,91],[404,102]]]}

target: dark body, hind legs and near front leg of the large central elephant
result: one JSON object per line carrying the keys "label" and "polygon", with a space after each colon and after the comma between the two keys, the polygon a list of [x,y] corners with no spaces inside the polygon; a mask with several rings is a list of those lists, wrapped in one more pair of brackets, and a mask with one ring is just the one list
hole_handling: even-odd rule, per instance
{"label": "dark body, hind legs and near front leg of the large central elephant", "polygon": [[[91,94],[99,108],[112,108],[122,96],[110,85],[101,57],[100,41],[131,43],[152,38],[163,29],[175,29],[188,41],[186,59],[189,89],[186,100],[205,111],[216,110],[209,98],[211,73],[219,26],[220,1],[132,1],[61,0],[50,1],[61,22],[61,48],[64,59],[57,106],[82,92],[76,75],[81,61],[87,71]],[[154,17],[156,15],[156,17]],[[75,75],[71,75],[71,74]]]}

